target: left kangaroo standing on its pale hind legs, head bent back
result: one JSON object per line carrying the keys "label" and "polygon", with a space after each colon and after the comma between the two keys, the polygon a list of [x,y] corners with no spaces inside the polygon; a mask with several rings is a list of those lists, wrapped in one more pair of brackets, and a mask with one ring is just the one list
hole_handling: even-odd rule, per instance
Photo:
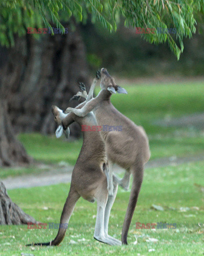
{"label": "left kangaroo standing on its pale hind legs, head bent back", "polygon": [[[66,117],[63,111],[52,107],[55,122],[61,126],[62,119]],[[71,114],[70,123],[77,122],[81,125],[97,125],[96,118],[92,112],[85,117],[78,117]],[[66,123],[67,127],[69,123]],[[121,241],[108,235],[108,222],[111,208],[117,194],[117,183],[114,183],[113,195],[108,195],[107,177],[108,167],[105,152],[105,143],[101,138],[100,132],[83,132],[83,145],[74,166],[71,179],[69,195],[66,199],[61,220],[55,239],[48,243],[37,243],[32,245],[58,245],[62,242],[66,228],[74,210],[74,206],[80,197],[94,203],[97,201],[97,216],[94,238],[99,242],[109,245],[121,245]],[[30,244],[31,245],[31,244]]]}

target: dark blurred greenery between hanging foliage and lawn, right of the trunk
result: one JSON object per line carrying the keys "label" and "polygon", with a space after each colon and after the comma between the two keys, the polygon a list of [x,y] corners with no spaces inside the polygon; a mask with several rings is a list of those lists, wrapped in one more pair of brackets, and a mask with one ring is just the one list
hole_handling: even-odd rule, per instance
{"label": "dark blurred greenery between hanging foliage and lawn, right of the trunk", "polygon": [[[91,70],[108,66],[119,77],[170,79],[203,76],[203,34],[184,39],[184,51],[177,61],[168,44],[150,44],[136,34],[136,28],[125,28],[123,21],[116,33],[108,33],[99,23],[81,26]],[[95,70],[94,69],[94,70]],[[165,81],[165,79],[164,79]]]}

